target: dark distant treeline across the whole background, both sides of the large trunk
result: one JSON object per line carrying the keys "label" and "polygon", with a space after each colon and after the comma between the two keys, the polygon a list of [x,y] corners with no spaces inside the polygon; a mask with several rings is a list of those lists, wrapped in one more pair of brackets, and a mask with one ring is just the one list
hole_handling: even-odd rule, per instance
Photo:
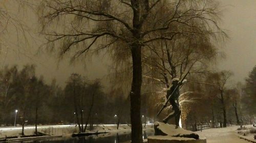
{"label": "dark distant treeline across the whole background, both sides of the large trunk", "polygon": [[[232,73],[210,72],[201,76],[188,76],[181,89],[183,127],[197,130],[197,126],[225,127],[228,124],[255,122],[256,67],[245,84],[230,84]],[[161,107],[165,91],[152,82],[143,86],[141,100],[142,122],[163,119],[156,113]],[[0,70],[0,124],[130,124],[130,99],[122,88],[104,92],[100,79],[88,80],[73,73],[65,88],[56,81],[46,84],[44,77],[35,76],[35,66],[17,66]],[[155,90],[155,91],[154,91]]]}

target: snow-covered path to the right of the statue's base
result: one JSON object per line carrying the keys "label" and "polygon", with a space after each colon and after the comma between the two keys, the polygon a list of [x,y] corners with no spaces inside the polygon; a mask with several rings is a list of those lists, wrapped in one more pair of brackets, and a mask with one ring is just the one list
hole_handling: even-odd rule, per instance
{"label": "snow-covered path to the right of the statue's base", "polygon": [[207,143],[248,143],[248,141],[241,139],[237,135],[239,126],[232,126],[227,128],[206,129],[197,131],[196,133],[206,137]]}

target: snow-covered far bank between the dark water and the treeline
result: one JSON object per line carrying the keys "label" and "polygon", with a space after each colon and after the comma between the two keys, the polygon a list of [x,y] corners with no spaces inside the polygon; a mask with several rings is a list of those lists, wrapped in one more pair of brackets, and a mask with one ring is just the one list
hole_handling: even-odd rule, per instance
{"label": "snow-covered far bank between the dark water and the treeline", "polygon": [[[119,125],[119,129],[116,129],[116,124],[111,125],[94,125],[92,130],[87,130],[88,133],[95,133],[95,132],[130,132],[131,126],[127,124]],[[147,124],[144,130],[147,129],[153,129],[153,124]],[[63,135],[63,136],[69,136],[73,133],[77,133],[79,131],[78,126],[73,125],[42,125],[37,126],[38,132],[42,132],[49,135]],[[25,135],[31,135],[35,131],[35,126],[26,126],[24,129]],[[6,136],[20,136],[20,133],[22,132],[22,127],[1,127],[0,128],[0,137],[6,137]]]}

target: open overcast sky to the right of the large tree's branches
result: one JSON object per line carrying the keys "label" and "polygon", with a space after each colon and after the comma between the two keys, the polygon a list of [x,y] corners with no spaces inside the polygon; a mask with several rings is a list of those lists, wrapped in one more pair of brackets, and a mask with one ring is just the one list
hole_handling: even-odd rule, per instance
{"label": "open overcast sky to the right of the large tree's branches", "polygon": [[226,59],[219,69],[231,70],[234,81],[244,81],[256,65],[256,1],[222,0],[222,27],[230,37],[224,45]]}

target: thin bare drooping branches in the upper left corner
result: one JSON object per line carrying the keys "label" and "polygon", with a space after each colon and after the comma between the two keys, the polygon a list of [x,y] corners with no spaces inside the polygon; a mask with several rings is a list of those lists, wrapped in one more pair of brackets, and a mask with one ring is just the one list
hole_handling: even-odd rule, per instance
{"label": "thin bare drooping branches in the upper left corner", "polygon": [[[11,50],[19,54],[25,54],[20,52],[19,49],[15,49],[15,47],[27,48],[29,47],[28,39],[34,40],[31,35],[31,28],[24,21],[26,13],[23,9],[24,4],[26,4],[26,1],[0,2],[0,48],[2,53],[5,51],[7,54]],[[11,33],[15,33],[15,36]]]}

